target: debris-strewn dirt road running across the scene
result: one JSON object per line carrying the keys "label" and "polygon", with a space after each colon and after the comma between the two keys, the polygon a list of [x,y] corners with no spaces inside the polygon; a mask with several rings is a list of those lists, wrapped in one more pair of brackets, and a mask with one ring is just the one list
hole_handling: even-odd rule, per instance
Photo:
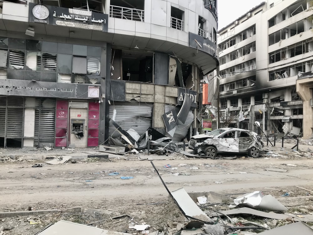
{"label": "debris-strewn dirt road running across the scene", "polygon": [[[170,191],[181,187],[186,191],[224,194],[266,191],[264,188],[277,187],[288,191],[290,186],[312,185],[313,182],[311,159],[181,158],[153,162]],[[164,168],[166,164],[172,168]],[[49,209],[40,206],[41,203],[47,206],[48,202],[53,208],[65,204],[67,207],[94,207],[101,204],[108,209],[126,204],[165,201],[168,198],[166,189],[147,160],[78,162],[44,165],[41,168],[33,168],[32,165],[33,162],[0,164],[1,209],[25,210],[28,206]],[[197,167],[198,170],[190,167]],[[267,171],[267,168],[280,168],[287,172]],[[119,175],[109,176],[110,172],[118,172]],[[134,178],[123,180],[121,176]]]}

